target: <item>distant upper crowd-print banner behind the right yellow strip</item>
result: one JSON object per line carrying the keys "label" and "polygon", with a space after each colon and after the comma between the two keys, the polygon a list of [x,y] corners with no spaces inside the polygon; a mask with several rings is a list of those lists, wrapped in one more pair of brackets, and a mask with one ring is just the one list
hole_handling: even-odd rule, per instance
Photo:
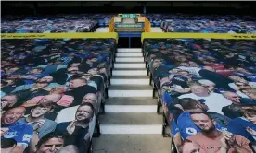
{"label": "distant upper crowd-print banner behind the right yellow strip", "polygon": [[197,14],[147,14],[152,26],[165,32],[195,33],[255,33],[254,16],[197,15]]}

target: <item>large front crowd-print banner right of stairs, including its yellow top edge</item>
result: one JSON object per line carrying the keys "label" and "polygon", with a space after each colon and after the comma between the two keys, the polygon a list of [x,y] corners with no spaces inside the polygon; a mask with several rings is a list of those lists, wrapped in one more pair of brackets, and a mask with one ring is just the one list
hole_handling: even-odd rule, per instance
{"label": "large front crowd-print banner right of stairs, including its yellow top edge", "polygon": [[256,35],[142,36],[179,152],[255,152]]}

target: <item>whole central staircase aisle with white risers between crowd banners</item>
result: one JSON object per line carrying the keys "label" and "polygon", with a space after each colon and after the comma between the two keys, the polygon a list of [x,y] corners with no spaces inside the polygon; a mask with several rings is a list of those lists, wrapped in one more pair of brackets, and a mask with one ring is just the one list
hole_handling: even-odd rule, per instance
{"label": "whole central staircase aisle with white risers between crowd banners", "polygon": [[161,135],[163,118],[149,81],[142,50],[118,49],[94,153],[171,152],[171,138]]}

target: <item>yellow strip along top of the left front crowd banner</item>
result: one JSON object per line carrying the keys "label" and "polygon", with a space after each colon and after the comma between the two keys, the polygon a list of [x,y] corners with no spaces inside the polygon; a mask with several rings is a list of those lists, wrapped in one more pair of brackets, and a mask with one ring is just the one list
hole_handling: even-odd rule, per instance
{"label": "yellow strip along top of the left front crowd banner", "polygon": [[1,33],[1,39],[79,39],[113,38],[118,41],[118,33]]}

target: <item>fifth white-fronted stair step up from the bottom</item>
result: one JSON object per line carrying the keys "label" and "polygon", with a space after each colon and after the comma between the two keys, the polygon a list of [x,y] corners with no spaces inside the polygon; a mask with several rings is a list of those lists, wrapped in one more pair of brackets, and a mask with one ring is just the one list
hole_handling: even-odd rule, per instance
{"label": "fifth white-fronted stair step up from the bottom", "polygon": [[147,68],[114,68],[113,76],[147,76]]}

